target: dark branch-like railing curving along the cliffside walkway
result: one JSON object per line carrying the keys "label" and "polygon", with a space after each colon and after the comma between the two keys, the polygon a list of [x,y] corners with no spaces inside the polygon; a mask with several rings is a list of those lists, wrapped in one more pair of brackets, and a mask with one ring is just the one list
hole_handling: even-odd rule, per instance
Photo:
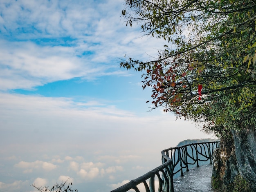
{"label": "dark branch-like railing curving along the cliffside walkway", "polygon": [[199,161],[212,164],[211,157],[218,146],[219,142],[215,141],[163,150],[162,165],[111,192],[174,192],[173,176],[179,172],[183,176],[184,170],[189,171],[195,164],[199,167]]}

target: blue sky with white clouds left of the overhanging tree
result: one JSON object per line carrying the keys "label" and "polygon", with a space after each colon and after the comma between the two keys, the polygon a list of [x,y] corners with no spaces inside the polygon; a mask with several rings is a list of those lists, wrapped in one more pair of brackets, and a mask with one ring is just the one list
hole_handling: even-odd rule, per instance
{"label": "blue sky with white clouds left of the overhanging tree", "polygon": [[126,27],[124,0],[0,1],[0,191],[70,179],[109,192],[161,164],[161,151],[211,138],[157,108],[141,72],[164,40]]}

